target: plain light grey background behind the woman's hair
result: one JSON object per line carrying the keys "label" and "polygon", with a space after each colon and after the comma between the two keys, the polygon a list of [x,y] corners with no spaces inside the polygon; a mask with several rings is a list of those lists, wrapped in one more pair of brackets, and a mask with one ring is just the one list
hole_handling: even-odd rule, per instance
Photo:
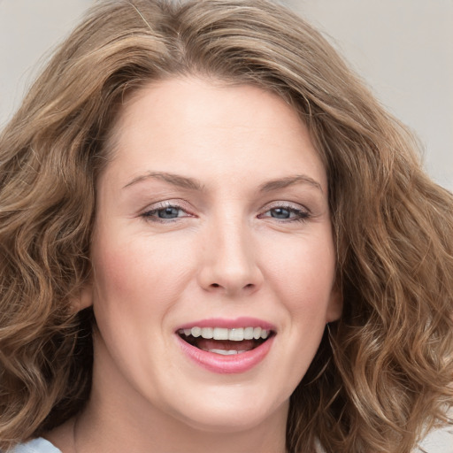
{"label": "plain light grey background behind the woman's hair", "polygon": [[[282,0],[324,32],[381,103],[417,132],[431,176],[453,190],[453,0]],[[0,127],[93,0],[0,0]],[[425,442],[453,453],[445,431]]]}

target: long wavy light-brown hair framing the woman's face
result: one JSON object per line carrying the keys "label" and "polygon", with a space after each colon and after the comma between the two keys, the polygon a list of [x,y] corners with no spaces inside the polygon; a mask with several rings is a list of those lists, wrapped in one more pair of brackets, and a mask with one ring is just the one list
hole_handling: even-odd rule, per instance
{"label": "long wavy light-brown hair framing the woman's face", "polygon": [[0,448],[81,410],[96,176],[122,100],[200,75],[285,99],[329,183],[342,318],[291,396],[287,447],[408,453],[447,421],[453,196],[322,35],[266,0],[106,0],[59,47],[0,136]]}

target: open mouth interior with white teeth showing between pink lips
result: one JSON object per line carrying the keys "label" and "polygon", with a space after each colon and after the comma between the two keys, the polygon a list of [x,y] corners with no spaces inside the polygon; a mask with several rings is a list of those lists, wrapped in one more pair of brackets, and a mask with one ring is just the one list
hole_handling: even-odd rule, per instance
{"label": "open mouth interior with white teeth showing between pink lips", "polygon": [[177,333],[191,346],[222,356],[248,352],[269,340],[274,334],[272,330],[262,327],[227,329],[197,326],[180,329]]}

